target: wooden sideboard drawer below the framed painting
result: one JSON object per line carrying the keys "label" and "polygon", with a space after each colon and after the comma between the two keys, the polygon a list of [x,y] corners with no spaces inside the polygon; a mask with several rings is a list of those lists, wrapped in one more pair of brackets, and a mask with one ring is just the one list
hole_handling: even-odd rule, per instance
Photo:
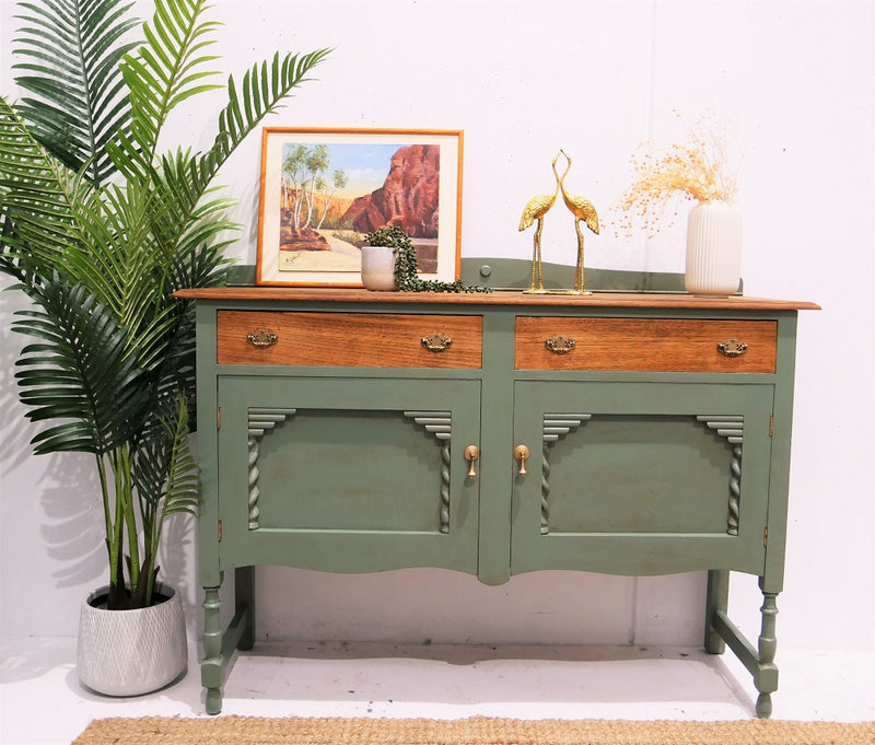
{"label": "wooden sideboard drawer below the framed painting", "polygon": [[482,316],[219,311],[219,364],[472,368]]}

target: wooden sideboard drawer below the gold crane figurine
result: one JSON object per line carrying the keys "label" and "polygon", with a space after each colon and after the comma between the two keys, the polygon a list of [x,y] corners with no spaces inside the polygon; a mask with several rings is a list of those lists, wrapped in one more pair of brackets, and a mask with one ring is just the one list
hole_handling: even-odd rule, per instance
{"label": "wooden sideboard drawer below the gold crane figurine", "polygon": [[775,372],[774,321],[516,318],[516,370]]}

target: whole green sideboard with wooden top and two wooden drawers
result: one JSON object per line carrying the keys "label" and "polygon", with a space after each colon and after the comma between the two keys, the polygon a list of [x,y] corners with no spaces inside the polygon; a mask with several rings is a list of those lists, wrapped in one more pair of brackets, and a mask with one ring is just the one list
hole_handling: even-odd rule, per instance
{"label": "whole green sideboard with wooden top and two wooden drawers", "polygon": [[[526,264],[466,260],[464,276],[512,287]],[[254,567],[283,564],[487,584],[708,570],[704,647],[730,645],[770,715],[796,319],[817,306],[596,279],[614,291],[179,293],[197,303],[208,712],[254,643]],[[730,571],[759,577],[756,644],[726,616]]]}

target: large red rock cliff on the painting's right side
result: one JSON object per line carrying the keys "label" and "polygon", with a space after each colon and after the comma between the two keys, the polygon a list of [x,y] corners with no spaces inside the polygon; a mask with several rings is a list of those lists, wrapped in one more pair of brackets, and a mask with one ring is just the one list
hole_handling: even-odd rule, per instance
{"label": "large red rock cliff on the painting's right side", "polygon": [[360,233],[398,225],[411,237],[438,237],[440,152],[436,144],[400,148],[383,186],[355,199],[345,221]]}

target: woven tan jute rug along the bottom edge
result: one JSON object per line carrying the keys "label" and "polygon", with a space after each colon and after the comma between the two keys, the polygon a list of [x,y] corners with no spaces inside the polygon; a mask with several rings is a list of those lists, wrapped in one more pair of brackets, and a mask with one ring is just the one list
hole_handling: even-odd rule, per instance
{"label": "woven tan jute rug along the bottom edge", "polygon": [[875,722],[102,719],[72,745],[875,745]]}

